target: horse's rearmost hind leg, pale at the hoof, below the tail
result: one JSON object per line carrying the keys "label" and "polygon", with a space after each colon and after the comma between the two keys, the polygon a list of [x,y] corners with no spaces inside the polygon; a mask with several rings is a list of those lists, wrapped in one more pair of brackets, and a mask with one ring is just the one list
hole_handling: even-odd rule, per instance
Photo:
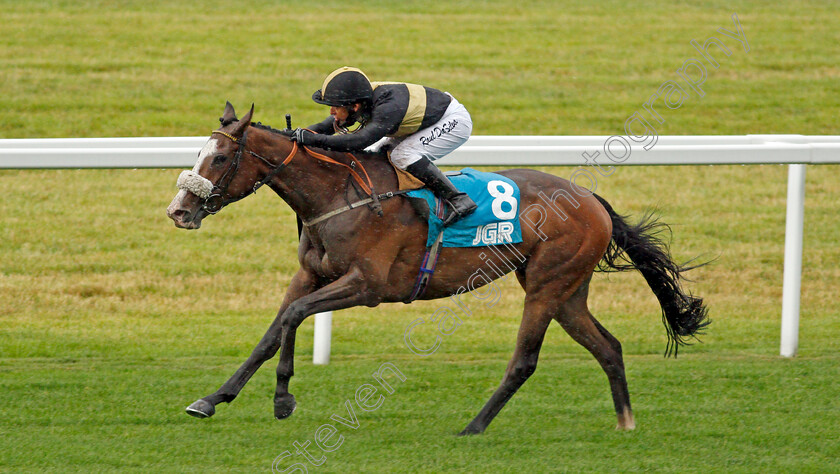
{"label": "horse's rearmost hind leg, pale at the hoof, below the tail", "polygon": [[632,430],[636,423],[630,408],[630,392],[627,390],[627,378],[624,374],[621,343],[589,312],[586,304],[588,293],[589,282],[586,282],[563,303],[555,319],[575,341],[595,356],[606,372],[618,417],[616,429]]}

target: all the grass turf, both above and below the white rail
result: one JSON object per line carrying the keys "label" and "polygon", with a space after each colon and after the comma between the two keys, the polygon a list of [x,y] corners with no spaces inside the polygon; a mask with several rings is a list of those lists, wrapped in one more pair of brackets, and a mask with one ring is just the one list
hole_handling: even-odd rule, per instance
{"label": "all the grass turf, both above and below the white rail", "polygon": [[[188,6],[190,5],[190,6]],[[319,120],[334,67],[427,83],[476,134],[611,134],[737,12],[706,96],[662,134],[837,134],[840,53],[829,2],[0,2],[0,137],[206,135],[226,99],[256,119]],[[348,31],[352,26],[352,33]],[[441,34],[445,32],[446,34]],[[568,177],[569,168],[544,170]],[[175,229],[178,170],[0,172],[0,470],[259,472],[312,440],[382,363],[407,376],[312,472],[840,470],[840,168],[808,169],[800,353],[778,357],[786,168],[620,168],[621,213],[658,206],[678,260],[717,257],[691,289],[703,343],[664,360],[638,274],[598,275],[593,313],[624,344],[638,429],[613,431],[597,363],[557,325],[536,374],[483,436],[457,438],[498,384],[522,291],[480,308],[421,358],[403,331],[440,302],[336,313],[332,362],[299,331],[298,410],[272,417],[276,359],[209,420],[215,390],[262,335],[296,268],[294,218],[270,192]],[[317,452],[314,449],[313,452]],[[281,467],[301,461],[288,458]]]}

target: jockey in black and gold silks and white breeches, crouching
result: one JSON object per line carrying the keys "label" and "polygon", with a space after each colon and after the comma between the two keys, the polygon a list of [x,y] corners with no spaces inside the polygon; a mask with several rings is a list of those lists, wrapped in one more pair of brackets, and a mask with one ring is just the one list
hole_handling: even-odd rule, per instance
{"label": "jockey in black and gold silks and white breeches, crouching", "polygon": [[342,67],[327,76],[312,100],[329,105],[330,116],[309,127],[315,133],[295,130],[292,140],[337,151],[388,147],[394,165],[452,208],[444,225],[476,209],[475,202],[432,164],[463,145],[472,132],[469,112],[448,92],[402,82],[372,83],[362,71]]}

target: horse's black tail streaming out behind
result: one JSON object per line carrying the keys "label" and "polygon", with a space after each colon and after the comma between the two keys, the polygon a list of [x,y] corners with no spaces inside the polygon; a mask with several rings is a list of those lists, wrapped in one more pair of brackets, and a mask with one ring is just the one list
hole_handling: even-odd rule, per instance
{"label": "horse's black tail streaming out behind", "polygon": [[636,225],[617,214],[601,196],[595,198],[604,206],[612,221],[612,240],[607,253],[598,265],[601,271],[638,270],[645,277],[659,305],[662,322],[668,332],[665,355],[677,356],[679,346],[687,345],[687,338],[701,334],[711,322],[703,299],[686,294],[680,286],[683,272],[705,265],[679,265],[674,262],[668,244],[659,237],[667,224],[647,213]]}

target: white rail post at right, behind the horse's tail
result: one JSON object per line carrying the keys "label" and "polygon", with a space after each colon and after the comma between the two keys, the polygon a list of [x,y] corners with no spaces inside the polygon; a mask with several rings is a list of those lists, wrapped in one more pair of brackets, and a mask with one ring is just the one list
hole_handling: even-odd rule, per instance
{"label": "white rail post at right, behind the horse's tail", "polygon": [[802,286],[802,233],[805,215],[805,165],[788,165],[785,217],[785,272],[782,289],[782,357],[799,347],[799,297]]}

